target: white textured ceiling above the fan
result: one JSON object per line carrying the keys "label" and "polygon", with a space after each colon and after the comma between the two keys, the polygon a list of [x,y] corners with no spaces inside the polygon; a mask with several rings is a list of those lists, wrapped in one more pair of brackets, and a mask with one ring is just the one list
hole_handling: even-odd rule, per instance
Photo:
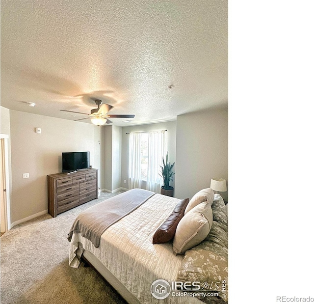
{"label": "white textured ceiling above the fan", "polygon": [[1,106],[75,120],[96,98],[128,125],[227,104],[228,2],[1,0]]}

